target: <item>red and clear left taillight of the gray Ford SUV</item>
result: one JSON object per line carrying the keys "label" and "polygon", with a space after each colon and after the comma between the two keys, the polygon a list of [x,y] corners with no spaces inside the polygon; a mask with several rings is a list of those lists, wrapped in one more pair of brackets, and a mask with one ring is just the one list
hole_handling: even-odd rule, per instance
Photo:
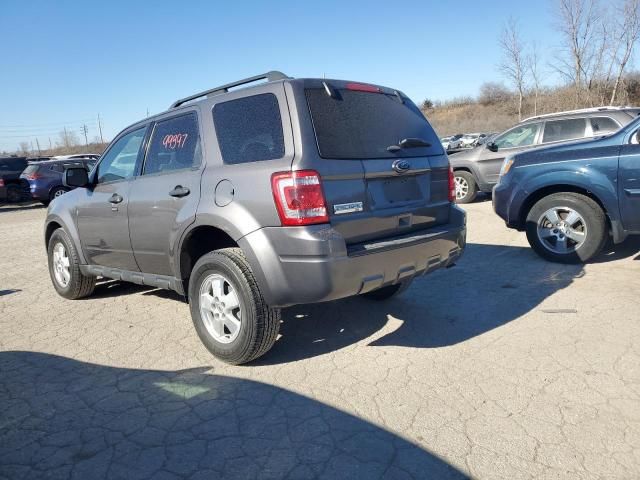
{"label": "red and clear left taillight of the gray Ford SUV", "polygon": [[320,175],[315,170],[274,173],[271,188],[282,225],[329,222]]}

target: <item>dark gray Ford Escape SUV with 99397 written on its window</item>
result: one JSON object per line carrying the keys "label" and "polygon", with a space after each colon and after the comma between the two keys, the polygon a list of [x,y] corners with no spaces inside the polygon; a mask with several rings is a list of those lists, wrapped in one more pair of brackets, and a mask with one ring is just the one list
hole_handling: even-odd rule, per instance
{"label": "dark gray Ford Escape SUV with 99397 written on its window", "polygon": [[401,92],[363,83],[269,72],[198,93],[65,182],[79,188],[45,225],[58,293],[86,297],[97,277],[175,290],[233,364],[271,348],[281,307],[386,299],[465,247],[433,129]]}

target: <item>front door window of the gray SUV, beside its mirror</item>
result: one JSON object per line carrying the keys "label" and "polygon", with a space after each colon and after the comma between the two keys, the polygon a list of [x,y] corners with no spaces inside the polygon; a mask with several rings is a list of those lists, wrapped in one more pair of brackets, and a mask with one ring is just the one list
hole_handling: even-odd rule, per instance
{"label": "front door window of the gray SUV, beside its mirror", "polygon": [[133,177],[146,127],[127,133],[102,157],[95,175],[97,183],[115,182]]}

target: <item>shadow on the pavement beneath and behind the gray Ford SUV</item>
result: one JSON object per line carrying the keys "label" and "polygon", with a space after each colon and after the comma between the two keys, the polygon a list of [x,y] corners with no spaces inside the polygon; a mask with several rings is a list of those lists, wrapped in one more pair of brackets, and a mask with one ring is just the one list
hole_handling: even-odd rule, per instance
{"label": "shadow on the pavement beneath and behind the gray Ford SUV", "polygon": [[468,244],[459,265],[417,278],[391,300],[356,297],[284,310],[281,337],[255,363],[322,355],[380,331],[369,345],[456,345],[536,309],[582,275],[581,265],[547,262],[528,247]]}

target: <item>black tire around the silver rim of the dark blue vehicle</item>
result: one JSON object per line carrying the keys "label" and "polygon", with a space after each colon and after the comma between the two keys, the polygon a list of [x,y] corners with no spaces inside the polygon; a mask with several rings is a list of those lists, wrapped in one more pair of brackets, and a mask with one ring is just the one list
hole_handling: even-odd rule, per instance
{"label": "black tire around the silver rim of the dark blue vehicle", "polygon": [[[575,210],[586,225],[582,245],[568,253],[557,253],[545,246],[538,235],[538,221],[552,208],[567,207]],[[538,200],[527,215],[527,240],[541,257],[557,263],[584,263],[598,255],[607,241],[605,213],[594,200],[578,193],[554,193]]]}

